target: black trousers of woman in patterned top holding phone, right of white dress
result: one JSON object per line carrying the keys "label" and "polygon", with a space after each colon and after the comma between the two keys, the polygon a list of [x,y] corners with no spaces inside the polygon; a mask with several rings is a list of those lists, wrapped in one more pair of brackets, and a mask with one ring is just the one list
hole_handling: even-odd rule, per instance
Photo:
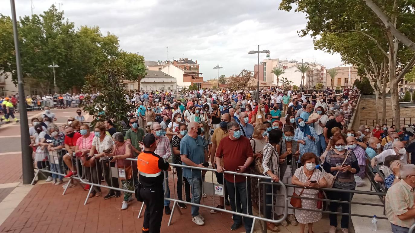
{"label": "black trousers of woman in patterned top holding phone, right of white dress", "polygon": [[[355,188],[353,188],[352,190],[355,190]],[[353,193],[350,194],[347,192],[327,192],[327,198],[330,200],[349,202],[353,198]],[[349,214],[349,210],[350,210],[349,203],[330,202],[329,210],[332,212],[337,212],[337,208],[339,206],[342,207],[342,213]],[[337,214],[329,214],[329,219],[330,219],[330,226],[337,227]],[[349,216],[348,215],[342,215],[340,226],[342,228],[349,228]]]}

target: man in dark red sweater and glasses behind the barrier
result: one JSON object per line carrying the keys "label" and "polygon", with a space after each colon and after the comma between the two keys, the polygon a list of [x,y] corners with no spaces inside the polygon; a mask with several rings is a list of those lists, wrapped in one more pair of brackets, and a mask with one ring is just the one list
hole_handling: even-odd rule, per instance
{"label": "man in dark red sweater and glasses behind the barrier", "polygon": [[[240,126],[237,122],[228,123],[229,136],[220,140],[216,150],[215,160],[217,172],[236,171],[237,173],[249,173],[249,165],[254,161],[252,146],[249,139],[241,137]],[[221,160],[223,158],[223,167]],[[226,168],[226,169],[225,169]],[[226,188],[229,194],[232,211],[238,210],[244,214],[252,214],[252,203],[250,198],[251,184],[249,179],[245,180],[242,175],[234,177],[232,174],[225,174]],[[248,196],[248,195],[249,196]],[[235,199],[236,196],[236,199]],[[234,223],[231,230],[235,231],[242,225],[242,216],[233,215]],[[243,218],[244,226],[247,232],[251,231],[252,219]]]}

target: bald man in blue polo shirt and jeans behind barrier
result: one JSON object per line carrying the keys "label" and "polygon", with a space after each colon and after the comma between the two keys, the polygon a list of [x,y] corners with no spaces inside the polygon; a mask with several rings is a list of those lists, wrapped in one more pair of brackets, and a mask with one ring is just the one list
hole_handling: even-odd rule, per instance
{"label": "bald man in blue polo shirt and jeans behind barrier", "polygon": [[[202,129],[197,122],[190,122],[188,127],[188,134],[185,135],[180,142],[180,158],[184,165],[201,167],[207,162],[207,150],[204,147],[203,138],[199,135]],[[183,168],[183,177],[185,177],[190,184],[190,191],[192,192],[192,202],[200,204],[200,197],[202,195],[202,174],[200,170],[190,168]],[[199,207],[192,206],[192,221],[201,226],[205,224],[203,216],[199,214]]]}

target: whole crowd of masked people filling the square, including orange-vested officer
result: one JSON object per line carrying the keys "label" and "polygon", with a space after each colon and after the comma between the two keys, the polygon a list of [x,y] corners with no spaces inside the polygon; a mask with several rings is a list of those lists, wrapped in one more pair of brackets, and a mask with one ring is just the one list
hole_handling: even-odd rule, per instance
{"label": "whole crowd of masked people filling the square, including orange-vested officer", "polygon": [[[44,155],[65,148],[66,151],[61,154],[63,169],[67,169],[68,174],[64,177],[76,174],[78,169],[73,167],[72,161],[74,156],[78,156],[84,166],[91,168],[91,172],[85,174],[90,183],[100,183],[103,175],[107,185],[119,187],[120,184],[123,189],[135,189],[136,197],[154,203],[146,209],[143,232],[149,229],[159,232],[163,216],[160,212],[164,208],[165,214],[171,213],[170,203],[164,200],[163,195],[151,195],[147,191],[164,189],[162,171],[169,169],[166,161],[170,157],[172,163],[200,168],[212,166],[216,169],[217,183],[224,185],[224,197],[220,197],[217,208],[224,209],[230,205],[232,211],[261,213],[269,219],[281,218],[283,198],[267,195],[266,204],[277,207],[267,205],[265,213],[262,213],[263,210],[259,209],[263,205],[260,203],[262,190],[258,189],[258,179],[246,180],[244,176],[222,174],[224,171],[266,175],[274,182],[281,180],[302,187],[288,188],[289,194],[317,198],[321,195],[319,190],[309,188],[354,190],[355,180],[364,178],[366,174],[366,163],[379,167],[381,172],[376,174],[376,181],[394,188],[392,185],[402,176],[399,174],[400,168],[405,167],[403,164],[415,161],[409,156],[415,150],[414,144],[410,144],[414,135],[405,127],[401,126],[399,131],[394,125],[376,125],[374,129],[362,125],[359,131],[349,128],[359,98],[356,88],[345,88],[341,95],[328,88],[312,92],[310,96],[278,87],[261,89],[260,93],[201,89],[186,93],[188,98],[164,98],[157,102],[152,94],[143,95],[129,100],[136,106],[136,111],[126,123],[130,129],[125,132],[125,137],[122,132],[117,132],[111,119],[97,122],[93,127],[83,124],[85,119],[81,118],[80,109],[76,110],[76,116],[68,118],[64,128],[59,128],[53,123],[56,119],[53,113],[45,108],[41,118],[32,119],[31,128],[38,167],[49,163]],[[256,98],[258,101],[255,101]],[[138,158],[138,163],[125,161],[127,158]],[[118,168],[125,169],[125,178],[117,180],[108,175],[115,163]],[[47,166],[51,171],[62,169],[52,164]],[[203,192],[204,172],[179,167],[174,172],[178,178],[177,198],[200,204],[200,200],[207,196]],[[330,174],[334,179],[327,180]],[[63,176],[51,174],[46,181],[61,184],[62,180]],[[415,186],[415,181],[407,183]],[[85,190],[89,188],[87,185]],[[167,197],[170,197],[170,190],[166,191]],[[281,194],[275,185],[266,185],[266,192]],[[351,201],[352,195],[336,191],[326,194],[329,199],[340,201],[331,202],[330,211],[337,212],[341,207],[343,213],[349,213],[350,204],[347,202]],[[104,198],[120,195],[120,192],[110,190]],[[90,197],[96,196],[100,196],[99,188],[90,193]],[[125,192],[121,209],[127,209],[131,200],[131,193]],[[388,196],[386,200],[388,210]],[[304,209],[321,208],[317,200],[303,199],[301,202]],[[178,207],[187,208],[181,202],[178,202]],[[289,204],[289,207],[293,205]],[[391,207],[393,211],[395,208]],[[217,213],[215,209],[210,212]],[[195,224],[204,224],[198,206],[192,205],[191,215]],[[330,226],[327,227],[330,233],[335,233],[337,215],[329,216]],[[231,230],[242,225],[247,232],[251,230],[251,218],[235,214],[232,217],[234,223]],[[306,231],[305,226],[308,225],[308,233],[312,233],[313,223],[320,219],[321,212],[290,208],[287,219],[281,225],[296,226],[299,223],[301,233]],[[400,221],[405,220],[391,221],[395,224],[392,226],[402,226]],[[340,226],[342,232],[348,232],[347,215],[342,215]],[[267,228],[279,231],[273,223],[268,223]]]}

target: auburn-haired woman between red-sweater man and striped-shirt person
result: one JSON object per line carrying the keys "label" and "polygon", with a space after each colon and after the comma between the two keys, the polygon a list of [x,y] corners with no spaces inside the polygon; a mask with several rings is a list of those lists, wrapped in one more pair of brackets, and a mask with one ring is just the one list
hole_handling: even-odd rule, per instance
{"label": "auburn-haired woman between red-sweater man and striped-shirt person", "polygon": [[[268,141],[265,137],[267,134],[268,131],[264,124],[255,125],[254,133],[252,134],[252,139],[250,139],[252,151],[254,153],[254,161],[262,158],[262,152],[264,150],[266,142]],[[251,168],[251,173],[256,175],[262,175],[259,171],[256,170],[256,167]],[[253,187],[251,188],[252,207],[256,212],[259,213],[259,197],[262,197],[262,191],[261,194],[258,193],[258,185],[258,179],[251,178],[251,187]]]}

